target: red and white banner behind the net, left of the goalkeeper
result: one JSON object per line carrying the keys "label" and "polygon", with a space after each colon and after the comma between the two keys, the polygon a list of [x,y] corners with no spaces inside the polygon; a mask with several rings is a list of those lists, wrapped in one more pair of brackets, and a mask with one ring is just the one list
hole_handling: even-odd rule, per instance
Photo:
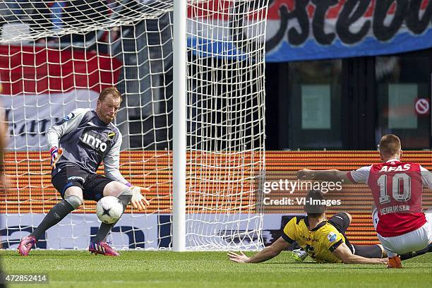
{"label": "red and white banner behind the net, left of the goalkeeper", "polygon": [[100,91],[117,83],[120,68],[120,61],[95,52],[0,46],[9,148],[44,149],[47,128],[73,109],[94,108]]}

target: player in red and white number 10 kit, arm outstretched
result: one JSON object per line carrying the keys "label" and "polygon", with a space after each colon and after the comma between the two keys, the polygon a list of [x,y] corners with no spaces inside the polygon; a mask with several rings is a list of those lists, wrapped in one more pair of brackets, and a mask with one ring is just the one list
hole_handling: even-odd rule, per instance
{"label": "player in red and white number 10 kit, arm outstretched", "polygon": [[382,163],[351,172],[303,169],[299,179],[367,184],[376,208],[373,224],[388,257],[388,268],[402,268],[404,253],[424,250],[432,243],[432,212],[421,210],[423,187],[432,188],[432,174],[416,163],[401,162],[400,139],[389,134],[379,145]]}

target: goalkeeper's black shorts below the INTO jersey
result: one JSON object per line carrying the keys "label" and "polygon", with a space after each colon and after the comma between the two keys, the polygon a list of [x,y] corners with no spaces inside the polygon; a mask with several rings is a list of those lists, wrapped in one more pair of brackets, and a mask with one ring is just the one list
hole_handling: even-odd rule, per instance
{"label": "goalkeeper's black shorts below the INTO jersey", "polygon": [[[55,169],[57,172],[57,169]],[[52,172],[54,174],[54,170]],[[60,172],[57,172],[51,180],[52,185],[59,191],[61,198],[64,198],[64,192],[71,186],[83,189],[83,198],[85,200],[99,201],[104,196],[104,188],[109,182],[114,181],[105,176],[85,172],[84,170],[66,166]]]}

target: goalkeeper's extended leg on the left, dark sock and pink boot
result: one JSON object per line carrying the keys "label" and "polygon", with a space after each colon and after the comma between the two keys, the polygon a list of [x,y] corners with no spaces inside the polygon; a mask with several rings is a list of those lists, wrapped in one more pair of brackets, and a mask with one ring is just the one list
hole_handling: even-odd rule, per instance
{"label": "goalkeeper's extended leg on the left, dark sock and pink boot", "polygon": [[28,256],[32,247],[36,244],[40,235],[59,223],[66,215],[78,208],[83,203],[83,191],[80,187],[71,186],[64,193],[64,200],[54,205],[44,217],[39,226],[29,236],[24,237],[18,245],[18,253]]}

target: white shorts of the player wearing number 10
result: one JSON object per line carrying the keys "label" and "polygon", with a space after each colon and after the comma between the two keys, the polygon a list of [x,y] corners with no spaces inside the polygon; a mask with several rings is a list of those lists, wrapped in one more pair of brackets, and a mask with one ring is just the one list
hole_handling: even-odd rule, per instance
{"label": "white shorts of the player wearing number 10", "polygon": [[[425,215],[427,222],[412,232],[393,237],[383,237],[377,233],[388,257],[419,251],[432,243],[432,209],[427,210]],[[373,226],[376,229],[378,224],[378,211],[376,209],[373,210],[372,218]]]}

